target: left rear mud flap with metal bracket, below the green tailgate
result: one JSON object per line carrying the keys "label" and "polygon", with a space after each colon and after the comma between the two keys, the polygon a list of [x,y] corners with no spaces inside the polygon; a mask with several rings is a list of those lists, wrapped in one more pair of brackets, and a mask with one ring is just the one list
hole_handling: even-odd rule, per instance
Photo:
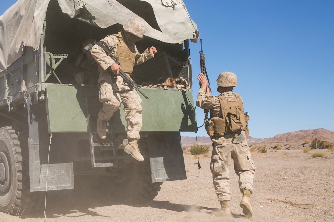
{"label": "left rear mud flap with metal bracket, below the green tailgate", "polygon": [[[49,133],[45,108],[27,99],[29,119],[29,175],[30,191],[62,190],[74,188],[73,162],[70,155],[59,147],[71,147],[71,135],[53,135],[51,161],[48,164]],[[36,121],[37,120],[37,121]],[[60,144],[60,145],[59,145]],[[66,149],[66,148],[65,148]],[[66,158],[53,158],[54,156]]]}

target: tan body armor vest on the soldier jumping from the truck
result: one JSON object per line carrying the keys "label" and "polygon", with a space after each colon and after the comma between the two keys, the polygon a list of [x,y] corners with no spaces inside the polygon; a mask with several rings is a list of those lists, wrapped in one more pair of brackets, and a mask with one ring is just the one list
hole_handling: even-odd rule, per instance
{"label": "tan body armor vest on the soldier jumping from the truck", "polygon": [[116,36],[118,40],[115,58],[121,63],[122,71],[130,75],[136,62],[136,51],[129,49],[128,45],[123,41],[122,36],[114,36]]}

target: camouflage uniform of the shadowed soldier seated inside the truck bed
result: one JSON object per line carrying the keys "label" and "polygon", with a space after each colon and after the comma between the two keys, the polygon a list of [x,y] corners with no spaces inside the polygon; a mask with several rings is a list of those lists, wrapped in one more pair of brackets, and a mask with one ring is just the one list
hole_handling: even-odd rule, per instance
{"label": "camouflage uniform of the shadowed soldier seated inside the truck bed", "polygon": [[76,59],[74,63],[73,74],[76,84],[98,84],[98,64],[95,60],[93,60],[92,62],[89,61],[84,53],[81,53]]}

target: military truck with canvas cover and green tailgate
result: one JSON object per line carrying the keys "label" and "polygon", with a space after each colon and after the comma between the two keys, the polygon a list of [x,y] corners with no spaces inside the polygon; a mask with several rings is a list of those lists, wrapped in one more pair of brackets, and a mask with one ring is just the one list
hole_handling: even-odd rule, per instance
{"label": "military truck with canvas cover and green tailgate", "polygon": [[[82,42],[116,34],[131,18],[146,27],[139,52],[158,50],[135,66],[133,80],[150,86],[171,78],[184,86],[140,88],[149,97],[139,94],[144,162],[120,149],[123,106],[99,140],[98,86],[73,84]],[[44,203],[45,192],[90,183],[143,202],[162,182],[186,179],[180,132],[197,131],[189,40],[199,33],[182,0],[18,0],[0,16],[0,32],[0,211],[15,215]]]}

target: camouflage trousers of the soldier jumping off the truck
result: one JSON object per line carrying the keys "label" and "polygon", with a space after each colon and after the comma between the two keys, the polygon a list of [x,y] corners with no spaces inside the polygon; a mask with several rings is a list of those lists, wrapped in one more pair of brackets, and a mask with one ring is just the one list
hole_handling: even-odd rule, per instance
{"label": "camouflage trousers of the soldier jumping off the truck", "polygon": [[[100,83],[101,84],[101,83]],[[119,90],[129,90],[129,86],[123,83],[123,78],[117,76],[117,86]],[[108,82],[100,85],[100,102],[103,107],[100,109],[99,118],[108,121],[121,106],[124,105],[125,120],[127,121],[128,139],[139,140],[139,131],[142,128],[142,99],[136,90],[127,93],[116,93]]]}

